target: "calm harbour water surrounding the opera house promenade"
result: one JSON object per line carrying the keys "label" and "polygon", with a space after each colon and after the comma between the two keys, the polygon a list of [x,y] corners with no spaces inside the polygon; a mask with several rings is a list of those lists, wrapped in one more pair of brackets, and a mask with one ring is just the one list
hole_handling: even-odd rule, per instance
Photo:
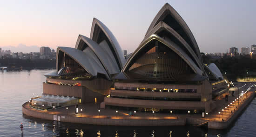
{"label": "calm harbour water surrounding the opera house promenade", "polygon": [[226,130],[194,126],[121,127],[54,122],[22,115],[22,104],[40,95],[49,70],[0,70],[0,137],[256,137],[256,98]]}

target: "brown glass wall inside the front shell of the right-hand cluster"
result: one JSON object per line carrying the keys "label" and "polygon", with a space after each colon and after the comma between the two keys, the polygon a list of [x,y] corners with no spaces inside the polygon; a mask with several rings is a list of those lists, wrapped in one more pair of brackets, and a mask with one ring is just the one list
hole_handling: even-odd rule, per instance
{"label": "brown glass wall inside the front shell of the right-hand cluster", "polygon": [[144,46],[128,68],[125,73],[135,79],[179,81],[184,75],[194,74],[187,62],[157,40]]}

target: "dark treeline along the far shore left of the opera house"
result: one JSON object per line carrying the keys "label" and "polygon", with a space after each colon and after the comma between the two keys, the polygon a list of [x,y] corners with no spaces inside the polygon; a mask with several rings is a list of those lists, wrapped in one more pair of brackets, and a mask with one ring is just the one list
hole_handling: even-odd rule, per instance
{"label": "dark treeline along the far shore left of the opera house", "polygon": [[55,68],[55,59],[36,59],[36,60],[23,60],[23,59],[0,59],[0,67],[8,67],[8,69],[44,69]]}

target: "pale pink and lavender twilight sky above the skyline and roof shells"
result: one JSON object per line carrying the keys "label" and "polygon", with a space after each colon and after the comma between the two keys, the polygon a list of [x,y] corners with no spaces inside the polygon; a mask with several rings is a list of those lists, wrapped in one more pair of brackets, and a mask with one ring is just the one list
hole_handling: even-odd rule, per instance
{"label": "pale pink and lavender twilight sky above the skyline and roof shells", "polygon": [[74,48],[79,34],[90,37],[95,17],[130,53],[165,3],[185,20],[201,52],[256,44],[256,0],[0,0],[0,48]]}

